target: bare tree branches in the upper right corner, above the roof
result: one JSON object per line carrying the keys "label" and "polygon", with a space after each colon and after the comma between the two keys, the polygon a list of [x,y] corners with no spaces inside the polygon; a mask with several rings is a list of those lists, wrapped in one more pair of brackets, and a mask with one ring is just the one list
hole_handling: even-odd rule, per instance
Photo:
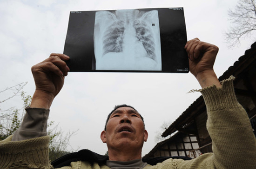
{"label": "bare tree branches in the upper right corner, above the roof", "polygon": [[226,43],[229,48],[240,44],[241,38],[256,37],[252,32],[256,31],[256,1],[239,0],[234,10],[229,9],[229,17],[232,26],[225,32]]}

